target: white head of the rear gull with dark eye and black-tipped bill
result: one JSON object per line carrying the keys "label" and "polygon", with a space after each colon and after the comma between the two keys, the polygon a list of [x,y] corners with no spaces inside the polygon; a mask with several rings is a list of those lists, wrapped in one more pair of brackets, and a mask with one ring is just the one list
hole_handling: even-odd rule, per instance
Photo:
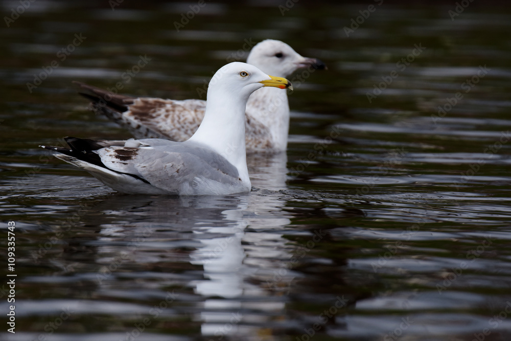
{"label": "white head of the rear gull with dark eye and black-tipped bill", "polygon": [[256,44],[248,55],[247,63],[277,77],[287,77],[302,67],[327,69],[321,60],[300,56],[285,42],[272,39]]}

